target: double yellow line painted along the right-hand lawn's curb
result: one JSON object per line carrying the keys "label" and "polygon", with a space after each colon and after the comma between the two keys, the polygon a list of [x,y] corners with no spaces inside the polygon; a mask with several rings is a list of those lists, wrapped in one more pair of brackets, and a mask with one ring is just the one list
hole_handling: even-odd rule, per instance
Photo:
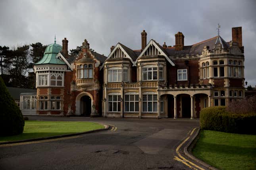
{"label": "double yellow line painted along the right-hand lawn's curb", "polygon": [[[191,137],[191,135],[194,133],[195,130],[196,130],[196,128],[194,128],[194,129],[192,130],[192,132],[190,133],[189,137],[187,137],[187,138],[176,148],[176,153],[177,153],[177,155],[178,155],[179,157],[174,157],[174,159],[177,160],[177,161],[182,162],[183,164],[185,164],[186,166],[188,166],[189,168],[192,168],[192,169],[194,169],[194,170],[198,170],[198,169],[200,169],[200,170],[205,170],[204,168],[201,168],[200,166],[194,164],[193,162],[191,162],[191,161],[185,159],[185,158],[179,153],[179,149],[181,148],[181,146],[182,146],[183,144],[185,144],[185,142],[187,142],[187,140],[189,140],[189,138]],[[198,169],[192,167],[191,165],[192,165],[192,166],[195,166],[195,167],[198,168]]]}

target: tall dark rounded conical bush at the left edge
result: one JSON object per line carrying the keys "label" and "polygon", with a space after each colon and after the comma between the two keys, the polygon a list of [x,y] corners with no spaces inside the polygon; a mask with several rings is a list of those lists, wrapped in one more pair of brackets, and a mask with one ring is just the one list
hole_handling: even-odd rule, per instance
{"label": "tall dark rounded conical bush at the left edge", "polygon": [[0,77],[0,110],[0,136],[21,134],[25,122],[2,77]]}

